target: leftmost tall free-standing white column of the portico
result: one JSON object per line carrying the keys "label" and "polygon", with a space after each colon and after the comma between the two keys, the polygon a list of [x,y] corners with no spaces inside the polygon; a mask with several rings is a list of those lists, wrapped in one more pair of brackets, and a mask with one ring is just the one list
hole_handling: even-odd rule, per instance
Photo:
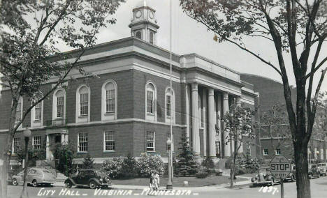
{"label": "leftmost tall free-standing white column of the portico", "polygon": [[195,155],[200,154],[200,137],[198,132],[198,84],[192,84],[192,146]]}

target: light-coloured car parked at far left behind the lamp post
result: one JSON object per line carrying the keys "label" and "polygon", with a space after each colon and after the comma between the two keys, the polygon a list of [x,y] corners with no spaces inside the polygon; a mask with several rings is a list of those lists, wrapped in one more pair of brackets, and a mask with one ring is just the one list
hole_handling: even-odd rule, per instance
{"label": "light-coloured car parked at far left behind the lamp post", "polygon": [[[34,187],[37,187],[38,184],[53,185],[55,180],[56,176],[54,176],[54,174],[52,174],[48,169],[40,167],[29,167],[27,169],[27,184],[31,183]],[[13,185],[24,183],[24,171],[14,175],[12,177],[12,183]]]}

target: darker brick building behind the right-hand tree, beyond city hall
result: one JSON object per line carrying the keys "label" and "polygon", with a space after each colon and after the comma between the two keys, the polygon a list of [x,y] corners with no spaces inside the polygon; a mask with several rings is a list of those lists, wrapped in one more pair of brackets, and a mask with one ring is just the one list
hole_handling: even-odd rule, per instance
{"label": "darker brick building behind the right-hand tree, beyond city hall", "polygon": [[[259,93],[259,101],[256,106],[259,109],[259,115],[268,112],[273,105],[284,107],[286,112],[284,89],[281,82],[277,82],[267,77],[258,75],[241,74],[240,78],[246,82],[254,84],[254,91]],[[296,104],[296,88],[291,88],[292,103]],[[287,115],[287,114],[286,114]],[[278,129],[276,129],[278,128]],[[280,132],[278,132],[280,131]],[[259,134],[259,155],[263,159],[270,160],[273,155],[285,155],[286,158],[293,159],[293,143],[291,139],[284,138],[289,133],[289,123],[278,123],[277,125],[261,125]],[[273,137],[272,137],[273,135]],[[289,136],[290,137],[290,136]],[[318,151],[318,152],[317,152]],[[308,158],[312,162],[327,161],[327,139],[318,139],[312,137],[308,144]]]}

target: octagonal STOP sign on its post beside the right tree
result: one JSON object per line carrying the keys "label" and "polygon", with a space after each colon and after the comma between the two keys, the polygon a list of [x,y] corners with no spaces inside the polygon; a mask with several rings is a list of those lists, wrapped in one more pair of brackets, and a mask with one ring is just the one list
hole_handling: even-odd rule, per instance
{"label": "octagonal STOP sign on its post beside the right tree", "polygon": [[284,178],[291,173],[291,162],[284,155],[275,155],[270,161],[270,172],[275,178],[280,178],[280,193],[284,198]]}

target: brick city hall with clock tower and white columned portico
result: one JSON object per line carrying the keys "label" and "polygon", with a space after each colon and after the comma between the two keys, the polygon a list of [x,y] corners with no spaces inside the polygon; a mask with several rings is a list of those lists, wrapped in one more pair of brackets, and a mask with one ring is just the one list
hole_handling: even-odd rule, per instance
{"label": "brick city hall with clock tower and white columned portico", "polygon": [[[254,109],[258,94],[253,85],[242,82],[235,70],[198,54],[172,54],[170,61],[170,52],[156,45],[159,25],[155,10],[149,6],[133,9],[129,28],[131,37],[86,50],[80,64],[97,77],[86,78],[73,71],[75,80],[51,93],[24,119],[13,139],[13,154],[23,148],[22,130],[29,128],[31,146],[45,148],[47,160],[53,160],[51,145],[69,143],[77,153],[76,162],[86,153],[100,163],[129,153],[138,157],[144,152],[159,154],[166,161],[172,122],[175,153],[185,132],[195,155],[217,160],[231,156],[232,144],[225,142],[221,118],[231,105]],[[46,93],[56,82],[50,79],[42,91]],[[10,103],[10,91],[3,89],[1,142],[8,134]],[[21,98],[17,119],[29,105],[31,101]],[[253,145],[248,139],[240,153],[256,156]]]}

